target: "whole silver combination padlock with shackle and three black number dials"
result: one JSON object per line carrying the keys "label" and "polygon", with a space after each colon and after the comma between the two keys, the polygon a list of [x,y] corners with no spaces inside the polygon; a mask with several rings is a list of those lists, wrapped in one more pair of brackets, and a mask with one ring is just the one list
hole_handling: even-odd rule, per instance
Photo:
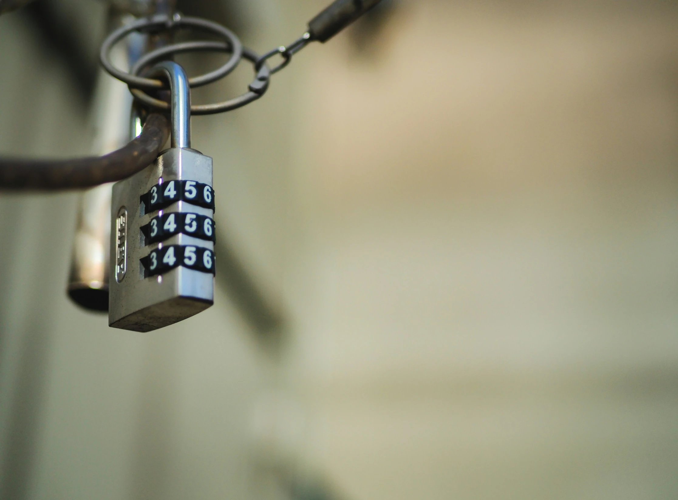
{"label": "whole silver combination padlock with shackle and three black number dials", "polygon": [[191,149],[191,90],[165,61],[172,91],[172,148],[113,186],[108,325],[146,332],[214,303],[212,158]]}

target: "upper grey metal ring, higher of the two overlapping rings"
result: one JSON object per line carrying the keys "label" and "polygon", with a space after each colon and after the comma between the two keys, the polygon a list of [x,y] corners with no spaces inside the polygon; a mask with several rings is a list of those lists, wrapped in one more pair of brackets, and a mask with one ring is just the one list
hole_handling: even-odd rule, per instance
{"label": "upper grey metal ring, higher of the two overlapping rings", "polygon": [[191,87],[197,87],[199,85],[206,85],[212,81],[216,81],[233,71],[233,68],[237,66],[240,62],[243,55],[243,45],[240,43],[238,37],[228,30],[217,24],[216,22],[208,21],[201,18],[193,17],[180,17],[175,14],[174,17],[167,16],[167,14],[159,14],[157,16],[152,16],[150,18],[144,18],[137,21],[134,21],[126,26],[122,26],[115,30],[111,35],[108,35],[106,40],[101,46],[101,51],[99,58],[101,60],[102,66],[108,71],[113,77],[131,85],[132,87],[141,87],[141,88],[151,88],[151,89],[162,89],[167,88],[167,84],[162,80],[142,78],[131,73],[119,70],[108,60],[108,54],[110,54],[113,45],[118,43],[125,36],[129,35],[133,31],[152,31],[153,28],[178,28],[181,26],[191,26],[192,28],[199,28],[206,31],[211,31],[224,37],[228,43],[228,51],[231,51],[233,55],[231,58],[221,66],[216,71],[207,73],[207,75],[200,75],[199,77],[193,77],[188,80],[188,84]]}

